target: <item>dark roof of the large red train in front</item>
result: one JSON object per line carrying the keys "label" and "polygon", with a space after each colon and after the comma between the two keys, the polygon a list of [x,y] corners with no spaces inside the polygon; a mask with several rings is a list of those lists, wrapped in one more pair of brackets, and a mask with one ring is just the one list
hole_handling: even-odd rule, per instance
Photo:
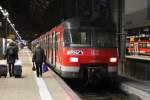
{"label": "dark roof of the large red train in front", "polygon": [[[92,28],[97,28],[99,30],[107,30],[107,31],[115,31],[115,24],[110,21],[110,20],[96,20],[93,21],[88,18],[70,18],[59,24],[58,26],[52,28],[50,31],[46,32],[45,34],[41,35],[37,39],[33,40],[32,43],[37,43],[39,38],[42,38],[45,35],[48,35],[51,33],[53,30],[56,31],[58,27],[63,26],[64,29],[92,29]],[[87,28],[88,27],[88,28]],[[60,30],[60,29],[59,29]]]}

